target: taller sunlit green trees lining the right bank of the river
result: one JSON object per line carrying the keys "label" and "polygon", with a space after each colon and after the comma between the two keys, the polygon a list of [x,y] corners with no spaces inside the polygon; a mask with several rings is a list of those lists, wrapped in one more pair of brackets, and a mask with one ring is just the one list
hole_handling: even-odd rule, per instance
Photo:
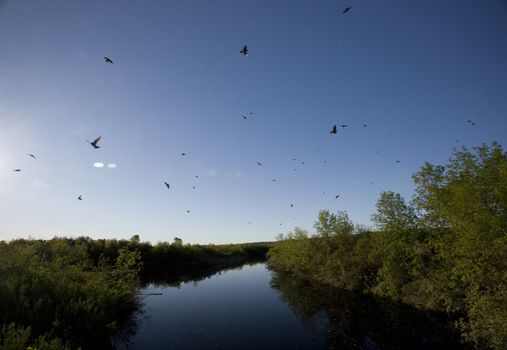
{"label": "taller sunlit green trees lining the right bank of the river", "polygon": [[507,154],[493,143],[455,151],[413,175],[410,202],[384,192],[376,230],[321,211],[315,234],[296,228],[268,263],[316,283],[456,316],[464,342],[507,347]]}

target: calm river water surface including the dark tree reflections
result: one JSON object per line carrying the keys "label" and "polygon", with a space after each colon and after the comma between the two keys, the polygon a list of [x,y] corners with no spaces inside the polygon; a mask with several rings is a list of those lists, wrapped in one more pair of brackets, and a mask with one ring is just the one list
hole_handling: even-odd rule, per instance
{"label": "calm river water surface including the dark tree reflections", "polygon": [[163,294],[144,297],[130,349],[463,348],[441,316],[311,287],[265,264],[141,293]]}

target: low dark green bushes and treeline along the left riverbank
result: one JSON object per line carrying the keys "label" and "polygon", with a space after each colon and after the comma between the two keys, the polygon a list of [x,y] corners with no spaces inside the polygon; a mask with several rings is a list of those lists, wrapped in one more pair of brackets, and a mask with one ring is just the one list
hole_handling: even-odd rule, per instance
{"label": "low dark green bushes and treeline along the left riverbank", "polygon": [[138,236],[0,241],[0,350],[113,348],[135,326],[140,277],[176,279],[263,260],[271,246],[179,238],[151,245]]}

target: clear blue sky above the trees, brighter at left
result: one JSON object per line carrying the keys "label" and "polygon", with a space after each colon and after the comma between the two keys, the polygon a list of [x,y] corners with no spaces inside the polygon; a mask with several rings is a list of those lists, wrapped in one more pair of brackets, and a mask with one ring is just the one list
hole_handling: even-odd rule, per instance
{"label": "clear blue sky above the trees, brighter at left", "polygon": [[0,240],[371,225],[424,162],[506,147],[506,38],[500,0],[0,1]]}

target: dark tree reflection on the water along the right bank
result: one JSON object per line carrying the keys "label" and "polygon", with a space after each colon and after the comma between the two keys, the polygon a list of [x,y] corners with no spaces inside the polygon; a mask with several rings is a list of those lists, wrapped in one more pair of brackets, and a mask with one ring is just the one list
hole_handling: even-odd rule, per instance
{"label": "dark tree reflection on the water along the right bank", "polygon": [[271,287],[328,349],[469,349],[447,315],[316,286],[273,272]]}

